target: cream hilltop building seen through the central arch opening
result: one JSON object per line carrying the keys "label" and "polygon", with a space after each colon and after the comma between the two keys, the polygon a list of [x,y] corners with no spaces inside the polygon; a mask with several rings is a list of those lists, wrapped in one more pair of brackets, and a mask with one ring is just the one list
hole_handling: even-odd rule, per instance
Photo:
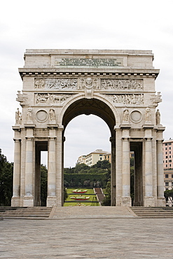
{"label": "cream hilltop building seen through the central arch opening", "polygon": [[111,153],[107,151],[103,151],[102,149],[96,149],[89,153],[88,155],[81,155],[78,160],[77,164],[85,164],[91,167],[95,165],[99,160],[108,160],[111,162]]}

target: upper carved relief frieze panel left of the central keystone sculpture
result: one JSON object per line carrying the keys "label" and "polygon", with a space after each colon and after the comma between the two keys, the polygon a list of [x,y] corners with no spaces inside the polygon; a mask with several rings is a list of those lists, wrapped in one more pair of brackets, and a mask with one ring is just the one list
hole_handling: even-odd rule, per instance
{"label": "upper carved relief frieze panel left of the central keystone sculpture", "polygon": [[34,87],[41,89],[76,90],[78,80],[76,78],[36,78]]}

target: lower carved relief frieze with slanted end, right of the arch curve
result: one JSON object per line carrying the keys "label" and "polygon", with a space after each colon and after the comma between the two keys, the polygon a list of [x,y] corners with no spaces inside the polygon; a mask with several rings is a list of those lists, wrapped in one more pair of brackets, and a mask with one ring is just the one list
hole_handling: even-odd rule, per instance
{"label": "lower carved relief frieze with slanted end, right of the arch curve", "polygon": [[113,104],[144,105],[144,94],[105,94]]}

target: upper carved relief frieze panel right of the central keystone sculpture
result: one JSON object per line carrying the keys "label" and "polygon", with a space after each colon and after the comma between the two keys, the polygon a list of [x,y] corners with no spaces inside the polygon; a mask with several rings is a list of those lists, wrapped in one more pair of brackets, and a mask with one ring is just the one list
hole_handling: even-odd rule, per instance
{"label": "upper carved relief frieze panel right of the central keystone sculpture", "polygon": [[143,90],[141,79],[103,79],[101,89],[108,90]]}

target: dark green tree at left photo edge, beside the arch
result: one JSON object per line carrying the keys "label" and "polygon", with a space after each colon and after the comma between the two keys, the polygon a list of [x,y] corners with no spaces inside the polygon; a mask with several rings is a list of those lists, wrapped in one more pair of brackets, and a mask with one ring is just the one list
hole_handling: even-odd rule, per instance
{"label": "dark green tree at left photo edge, beside the arch", "polygon": [[8,162],[0,149],[0,205],[11,206],[13,195],[13,163]]}

